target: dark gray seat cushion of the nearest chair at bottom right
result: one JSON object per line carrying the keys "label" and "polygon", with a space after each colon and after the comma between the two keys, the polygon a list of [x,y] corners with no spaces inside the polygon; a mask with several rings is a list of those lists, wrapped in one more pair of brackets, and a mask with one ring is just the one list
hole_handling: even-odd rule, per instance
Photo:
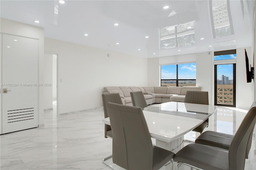
{"label": "dark gray seat cushion of the nearest chair at bottom right", "polygon": [[204,144],[188,144],[173,157],[175,162],[183,162],[204,170],[228,170],[228,152]]}

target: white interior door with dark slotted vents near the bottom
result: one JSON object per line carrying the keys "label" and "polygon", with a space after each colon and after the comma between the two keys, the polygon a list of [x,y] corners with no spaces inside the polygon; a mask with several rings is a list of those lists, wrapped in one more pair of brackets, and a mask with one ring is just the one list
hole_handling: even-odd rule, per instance
{"label": "white interior door with dark slotted vents near the bottom", "polygon": [[38,40],[2,34],[2,134],[38,127]]}

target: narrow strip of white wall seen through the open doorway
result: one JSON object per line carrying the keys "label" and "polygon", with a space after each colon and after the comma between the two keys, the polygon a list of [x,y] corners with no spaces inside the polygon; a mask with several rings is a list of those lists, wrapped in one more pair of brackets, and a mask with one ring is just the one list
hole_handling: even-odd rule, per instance
{"label": "narrow strip of white wall seen through the open doorway", "polygon": [[[44,83],[52,84],[52,54],[44,53]],[[44,109],[52,108],[52,86],[44,87]]]}

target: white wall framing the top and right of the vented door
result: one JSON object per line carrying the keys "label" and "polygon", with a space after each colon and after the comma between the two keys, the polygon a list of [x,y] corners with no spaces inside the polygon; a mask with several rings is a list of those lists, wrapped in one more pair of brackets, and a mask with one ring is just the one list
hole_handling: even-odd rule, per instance
{"label": "white wall framing the top and right of the vented door", "polygon": [[[6,34],[12,34],[17,36],[24,36],[30,38],[36,38],[38,40],[38,61],[39,61],[39,83],[43,83],[44,80],[44,28],[23,24],[11,20],[0,18],[0,32]],[[38,124],[42,126],[44,124],[44,97],[43,87],[39,87],[39,113]]]}

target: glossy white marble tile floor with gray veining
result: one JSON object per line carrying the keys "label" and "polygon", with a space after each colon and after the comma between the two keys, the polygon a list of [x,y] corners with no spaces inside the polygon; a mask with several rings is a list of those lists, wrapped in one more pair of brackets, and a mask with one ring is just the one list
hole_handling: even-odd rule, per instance
{"label": "glossy white marble tile floor with gray veining", "polygon": [[[218,107],[206,130],[234,134],[246,110]],[[44,127],[0,135],[1,170],[109,170],[102,158],[112,154],[112,140],[104,138],[103,109],[56,116],[45,111]],[[199,134],[189,132],[188,140]],[[154,140],[153,140],[154,143]],[[256,169],[255,135],[245,170]],[[109,160],[111,162],[111,159]],[[122,168],[119,168],[120,170]],[[190,169],[181,166],[180,169]]]}

